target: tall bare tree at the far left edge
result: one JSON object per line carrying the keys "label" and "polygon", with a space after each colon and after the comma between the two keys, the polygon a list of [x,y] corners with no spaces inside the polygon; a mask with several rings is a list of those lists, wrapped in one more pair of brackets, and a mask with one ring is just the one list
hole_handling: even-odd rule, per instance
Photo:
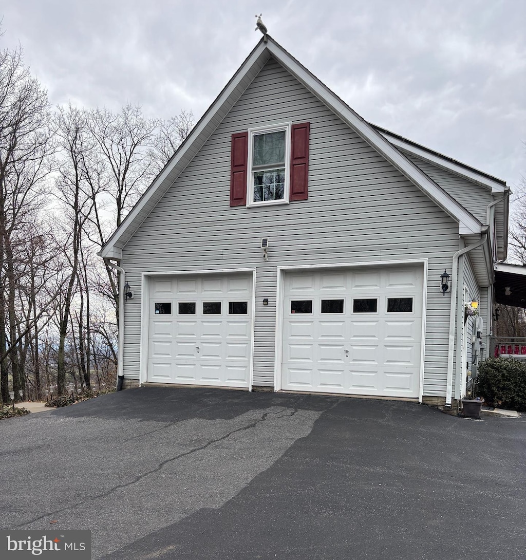
{"label": "tall bare tree at the far left edge", "polygon": [[22,385],[17,344],[27,329],[18,324],[17,254],[24,230],[41,206],[41,185],[52,152],[45,90],[22,62],[21,49],[0,52],[0,386],[8,399],[11,366],[16,398]]}

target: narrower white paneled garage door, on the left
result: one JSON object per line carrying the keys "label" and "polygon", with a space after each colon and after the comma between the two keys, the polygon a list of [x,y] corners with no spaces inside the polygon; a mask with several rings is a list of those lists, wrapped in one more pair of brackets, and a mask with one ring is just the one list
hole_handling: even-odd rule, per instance
{"label": "narrower white paneled garage door, on the left", "polygon": [[252,276],[152,277],[148,381],[249,387]]}

